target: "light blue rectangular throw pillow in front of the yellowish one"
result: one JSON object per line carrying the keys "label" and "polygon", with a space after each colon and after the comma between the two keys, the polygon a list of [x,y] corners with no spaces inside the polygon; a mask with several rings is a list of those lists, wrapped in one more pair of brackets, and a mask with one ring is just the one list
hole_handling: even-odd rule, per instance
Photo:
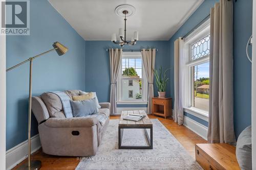
{"label": "light blue rectangular throw pillow in front of the yellowish one", "polygon": [[73,117],[82,117],[98,113],[96,98],[84,101],[70,101],[73,110]]}

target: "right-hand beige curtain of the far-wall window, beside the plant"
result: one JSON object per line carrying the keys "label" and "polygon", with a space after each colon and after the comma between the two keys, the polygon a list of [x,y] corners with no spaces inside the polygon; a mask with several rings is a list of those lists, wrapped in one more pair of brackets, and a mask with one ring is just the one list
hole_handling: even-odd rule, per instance
{"label": "right-hand beige curtain of the far-wall window, beside the plant", "polygon": [[154,72],[155,69],[155,58],[156,58],[156,49],[142,49],[141,51],[142,61],[145,68],[145,74],[148,82],[148,103],[147,103],[147,112],[151,114],[152,98],[154,97]]}

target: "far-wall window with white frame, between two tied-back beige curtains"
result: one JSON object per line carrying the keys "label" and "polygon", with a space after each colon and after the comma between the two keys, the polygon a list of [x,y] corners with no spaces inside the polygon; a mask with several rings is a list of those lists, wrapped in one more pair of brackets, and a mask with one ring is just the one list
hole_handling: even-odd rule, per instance
{"label": "far-wall window with white frame, between two tied-back beige curtains", "polygon": [[147,80],[140,52],[123,52],[117,86],[117,103],[147,104]]}

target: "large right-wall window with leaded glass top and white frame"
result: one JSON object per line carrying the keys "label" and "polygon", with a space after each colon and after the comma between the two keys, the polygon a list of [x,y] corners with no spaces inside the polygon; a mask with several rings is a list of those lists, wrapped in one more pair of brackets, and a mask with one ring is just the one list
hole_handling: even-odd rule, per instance
{"label": "large right-wall window with leaded glass top and white frame", "polygon": [[[206,21],[207,22],[207,21]],[[185,111],[207,120],[209,111],[209,22],[184,41],[186,57]],[[191,111],[191,112],[189,112]]]}

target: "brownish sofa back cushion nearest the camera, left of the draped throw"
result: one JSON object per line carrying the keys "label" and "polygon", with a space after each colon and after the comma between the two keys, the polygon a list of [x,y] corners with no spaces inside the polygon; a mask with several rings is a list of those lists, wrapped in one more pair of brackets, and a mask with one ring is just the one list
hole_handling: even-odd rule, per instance
{"label": "brownish sofa back cushion nearest the camera, left of the draped throw", "polygon": [[41,99],[44,101],[50,117],[66,117],[59,96],[51,92],[45,92],[41,94]]}

